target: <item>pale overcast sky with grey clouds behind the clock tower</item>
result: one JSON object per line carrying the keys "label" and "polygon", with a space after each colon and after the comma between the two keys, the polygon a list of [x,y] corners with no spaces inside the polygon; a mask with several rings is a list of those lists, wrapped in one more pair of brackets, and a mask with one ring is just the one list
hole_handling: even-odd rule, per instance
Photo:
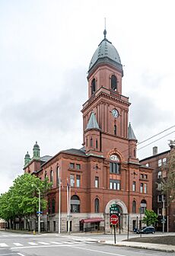
{"label": "pale overcast sky with grey clouds behind the clock tower", "polygon": [[[0,193],[23,173],[36,140],[40,155],[81,148],[87,71],[104,17],[138,142],[175,125],[173,0],[0,0]],[[174,130],[138,157],[169,149]]]}

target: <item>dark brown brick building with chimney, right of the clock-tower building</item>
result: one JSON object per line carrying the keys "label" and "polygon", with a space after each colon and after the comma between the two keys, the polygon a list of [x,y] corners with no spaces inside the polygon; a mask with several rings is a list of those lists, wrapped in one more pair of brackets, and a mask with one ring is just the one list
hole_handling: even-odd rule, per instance
{"label": "dark brown brick building with chimney, right of the clock-tower building", "polygon": [[[170,150],[174,148],[174,143],[172,142],[173,141],[171,141],[169,144]],[[154,212],[158,215],[158,222],[156,224],[157,230],[163,231],[162,219],[166,219],[164,223],[164,230],[175,232],[175,202],[170,202],[170,198],[167,194],[163,194],[161,188],[162,178],[166,179],[167,177],[167,173],[166,171],[163,171],[162,167],[166,165],[167,155],[169,154],[170,150],[157,153],[157,146],[154,146],[153,155],[142,159],[140,163],[153,169],[152,205]]]}

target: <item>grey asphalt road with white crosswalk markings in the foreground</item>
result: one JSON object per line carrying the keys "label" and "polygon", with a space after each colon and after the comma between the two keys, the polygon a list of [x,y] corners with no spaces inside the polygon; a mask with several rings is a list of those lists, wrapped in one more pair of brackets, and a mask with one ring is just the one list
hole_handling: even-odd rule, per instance
{"label": "grey asphalt road with white crosswalk markings in the foreground", "polygon": [[[118,235],[122,240],[126,235]],[[113,239],[113,235],[27,235],[0,231],[0,256],[161,256],[175,255],[161,251],[115,247],[99,244],[99,240]]]}

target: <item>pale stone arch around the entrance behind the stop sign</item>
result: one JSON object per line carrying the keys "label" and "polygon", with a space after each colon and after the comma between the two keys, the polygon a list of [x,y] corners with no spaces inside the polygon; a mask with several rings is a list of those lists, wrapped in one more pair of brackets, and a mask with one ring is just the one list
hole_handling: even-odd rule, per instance
{"label": "pale stone arch around the entrance behind the stop sign", "polygon": [[119,210],[119,228],[121,230],[127,230],[128,210],[126,204],[121,200],[110,200],[105,208],[105,232],[110,232],[110,207],[116,205]]}

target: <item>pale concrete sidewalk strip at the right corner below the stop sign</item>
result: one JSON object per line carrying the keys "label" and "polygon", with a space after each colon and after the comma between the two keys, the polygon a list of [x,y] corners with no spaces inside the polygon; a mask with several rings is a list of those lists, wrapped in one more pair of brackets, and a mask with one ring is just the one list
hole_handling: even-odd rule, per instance
{"label": "pale concrete sidewalk strip at the right corner below the stop sign", "polygon": [[166,252],[174,252],[175,245],[160,245],[160,244],[149,244],[149,243],[141,243],[141,242],[127,242],[127,241],[116,241],[114,244],[113,241],[99,241],[101,244],[105,245],[114,245],[114,246],[126,246],[132,248],[142,248],[147,250],[154,251],[166,251]]}

